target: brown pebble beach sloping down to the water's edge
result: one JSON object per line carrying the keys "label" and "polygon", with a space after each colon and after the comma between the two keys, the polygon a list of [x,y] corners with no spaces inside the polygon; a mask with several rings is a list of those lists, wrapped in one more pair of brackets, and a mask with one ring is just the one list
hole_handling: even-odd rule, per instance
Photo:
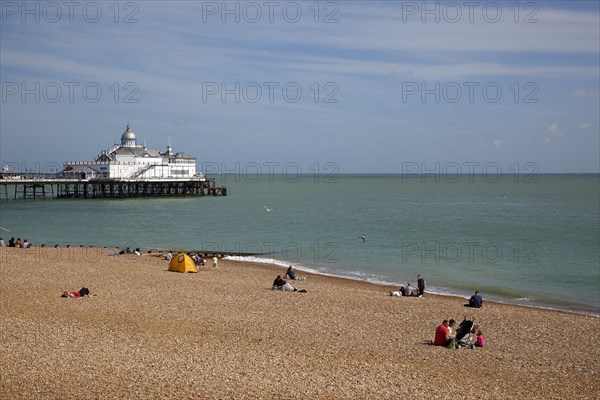
{"label": "brown pebble beach sloping down to the water's edge", "polygon": [[[600,319],[221,260],[0,248],[4,399],[597,399]],[[435,280],[435,277],[427,277]],[[86,298],[62,298],[90,289]],[[485,293],[482,293],[485,298]],[[486,346],[430,344],[474,319]]]}

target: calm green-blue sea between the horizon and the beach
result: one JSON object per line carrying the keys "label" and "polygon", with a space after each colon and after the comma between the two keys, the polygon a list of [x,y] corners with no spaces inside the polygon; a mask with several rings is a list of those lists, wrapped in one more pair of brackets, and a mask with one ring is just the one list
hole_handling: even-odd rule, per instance
{"label": "calm green-blue sea between the horizon and the beach", "polygon": [[2,201],[0,235],[253,253],[234,259],[382,285],[421,274],[431,293],[600,315],[598,174],[214,178],[228,196]]}

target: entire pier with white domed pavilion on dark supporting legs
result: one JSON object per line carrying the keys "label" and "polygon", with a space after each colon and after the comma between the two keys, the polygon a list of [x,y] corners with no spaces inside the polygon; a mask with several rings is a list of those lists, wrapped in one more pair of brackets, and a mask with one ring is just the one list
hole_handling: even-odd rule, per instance
{"label": "entire pier with white domed pavilion on dark supporting legs", "polygon": [[18,172],[8,165],[0,173],[0,200],[123,199],[140,197],[227,196],[196,172],[196,157],[138,144],[129,123],[120,143],[102,150],[92,161],[69,161],[60,172]]}

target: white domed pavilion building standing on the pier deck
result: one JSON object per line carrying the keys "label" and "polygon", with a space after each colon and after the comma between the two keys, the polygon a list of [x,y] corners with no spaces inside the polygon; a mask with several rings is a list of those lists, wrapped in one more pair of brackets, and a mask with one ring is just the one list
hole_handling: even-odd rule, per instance
{"label": "white domed pavilion building standing on the pier deck", "polygon": [[185,153],[173,153],[171,146],[161,153],[138,144],[135,133],[127,124],[121,143],[103,150],[94,161],[70,161],[64,164],[65,177],[80,179],[121,180],[190,180],[203,179],[196,174],[196,158]]}

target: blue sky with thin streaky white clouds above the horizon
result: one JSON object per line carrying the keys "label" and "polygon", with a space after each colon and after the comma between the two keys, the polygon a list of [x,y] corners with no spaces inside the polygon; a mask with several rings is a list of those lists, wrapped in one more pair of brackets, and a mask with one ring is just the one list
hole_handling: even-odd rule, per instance
{"label": "blue sky with thin streaky white clouds above the horizon", "polygon": [[597,1],[3,1],[0,163],[600,172]]}

